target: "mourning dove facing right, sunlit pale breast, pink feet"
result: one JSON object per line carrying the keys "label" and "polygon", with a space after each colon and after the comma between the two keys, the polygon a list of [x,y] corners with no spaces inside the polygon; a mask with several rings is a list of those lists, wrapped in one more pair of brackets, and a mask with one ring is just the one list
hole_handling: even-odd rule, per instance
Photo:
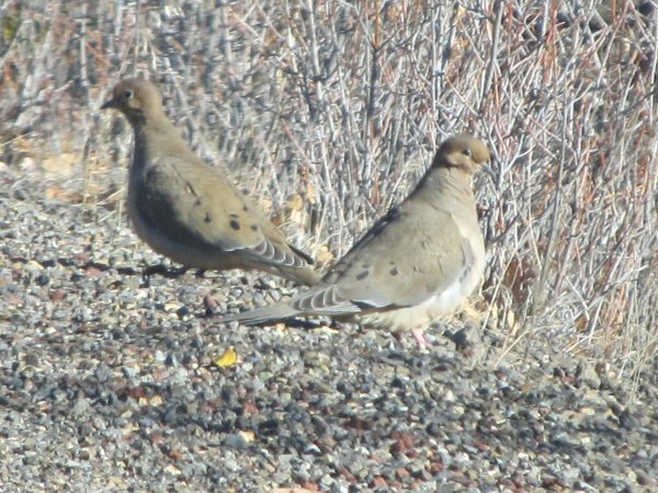
{"label": "mourning dove facing right, sunlit pale breast, pink feet", "polygon": [[394,333],[422,329],[450,313],[477,287],[485,243],[470,177],[489,161],[486,145],[445,140],[416,190],[383,217],[320,283],[290,301],[219,319],[249,324],[304,316],[358,314]]}

